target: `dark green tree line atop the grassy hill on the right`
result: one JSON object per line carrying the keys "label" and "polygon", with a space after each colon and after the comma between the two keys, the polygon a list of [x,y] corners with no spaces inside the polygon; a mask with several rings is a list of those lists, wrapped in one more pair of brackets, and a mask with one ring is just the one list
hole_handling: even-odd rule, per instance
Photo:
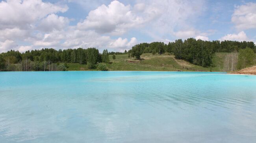
{"label": "dark green tree line atop the grassy hill on the right", "polygon": [[254,42],[237,42],[237,41],[203,41],[195,38],[187,40],[175,40],[165,44],[163,42],[140,43],[132,47],[128,52],[132,57],[140,59],[143,53],[163,54],[173,52],[175,58],[183,59],[195,65],[208,67],[212,63],[215,52],[234,52],[246,48],[256,52]]}

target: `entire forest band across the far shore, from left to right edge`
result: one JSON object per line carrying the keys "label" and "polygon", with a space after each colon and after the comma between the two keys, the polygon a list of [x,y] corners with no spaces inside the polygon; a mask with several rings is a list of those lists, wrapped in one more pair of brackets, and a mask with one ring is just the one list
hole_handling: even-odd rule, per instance
{"label": "entire forest band across the far shore, from left to right edge", "polygon": [[[106,70],[104,64],[99,63],[108,63],[109,55],[113,55],[112,58],[115,59],[117,54],[128,53],[128,57],[141,60],[140,56],[143,53],[163,54],[165,52],[173,53],[176,59],[186,60],[202,67],[211,66],[215,52],[229,52],[232,54],[227,56],[228,68],[232,68],[233,71],[236,69],[234,67],[241,69],[254,63],[256,47],[254,42],[203,41],[188,38],[184,41],[175,40],[168,44],[163,42],[140,43],[124,52],[108,52],[106,49],[100,53],[96,48],[65,50],[46,48],[23,53],[11,50],[0,54],[0,71],[65,71],[67,63],[87,64],[89,69],[100,67],[100,70],[104,71]],[[247,58],[252,60],[248,62]]]}

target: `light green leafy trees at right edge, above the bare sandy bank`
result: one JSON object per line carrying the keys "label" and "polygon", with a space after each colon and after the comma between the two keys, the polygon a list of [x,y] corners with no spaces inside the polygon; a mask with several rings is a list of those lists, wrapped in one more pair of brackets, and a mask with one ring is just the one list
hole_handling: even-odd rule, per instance
{"label": "light green leafy trees at right edge, above the bare sandy bank", "polygon": [[250,67],[255,63],[254,51],[250,48],[240,49],[237,61],[237,69]]}

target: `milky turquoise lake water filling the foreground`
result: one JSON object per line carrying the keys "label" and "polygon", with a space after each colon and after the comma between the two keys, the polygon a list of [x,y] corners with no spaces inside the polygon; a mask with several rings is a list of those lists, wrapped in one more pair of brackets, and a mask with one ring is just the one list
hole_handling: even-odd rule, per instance
{"label": "milky turquoise lake water filling the foreground", "polygon": [[255,143],[256,76],[0,72],[0,143]]}

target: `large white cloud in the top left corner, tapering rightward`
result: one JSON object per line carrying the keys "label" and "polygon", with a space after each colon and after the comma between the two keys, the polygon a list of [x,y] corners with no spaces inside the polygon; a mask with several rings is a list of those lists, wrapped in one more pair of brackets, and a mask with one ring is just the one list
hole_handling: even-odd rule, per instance
{"label": "large white cloud in the top left corner, tapering rightward", "polygon": [[0,29],[32,28],[37,20],[50,13],[65,12],[67,5],[55,5],[42,0],[7,0],[0,2]]}

